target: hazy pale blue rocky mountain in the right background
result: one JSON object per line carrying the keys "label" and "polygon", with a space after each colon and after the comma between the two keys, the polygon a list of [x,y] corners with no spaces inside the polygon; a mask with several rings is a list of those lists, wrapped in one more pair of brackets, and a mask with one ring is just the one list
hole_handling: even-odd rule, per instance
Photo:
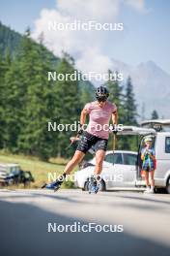
{"label": "hazy pale blue rocky mountain in the right background", "polygon": [[170,116],[170,75],[167,72],[153,60],[141,62],[137,66],[116,59],[112,59],[112,62],[115,70],[123,72],[125,80],[128,76],[131,77],[139,113],[145,104],[146,118],[149,118],[154,110],[161,117]]}

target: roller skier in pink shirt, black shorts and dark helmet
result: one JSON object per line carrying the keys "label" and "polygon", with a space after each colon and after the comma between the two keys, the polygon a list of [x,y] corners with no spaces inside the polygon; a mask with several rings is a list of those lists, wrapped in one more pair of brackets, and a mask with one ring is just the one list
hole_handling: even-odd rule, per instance
{"label": "roller skier in pink shirt, black shorts and dark helmet", "polygon": [[[112,122],[115,125],[118,123],[117,107],[115,104],[107,101],[109,92],[106,87],[99,86],[96,90],[97,101],[87,103],[81,112],[80,116],[80,130],[78,135],[82,135],[80,143],[78,144],[71,161],[67,164],[63,175],[52,183],[44,184],[42,186],[49,189],[57,190],[60,188],[63,180],[67,175],[71,174],[72,169],[82,161],[86,152],[95,146],[96,150],[96,167],[93,177],[93,190],[98,192],[98,178],[102,171],[102,162],[104,160],[105,151],[109,136],[109,121],[112,117]],[[83,130],[83,125],[86,121],[86,116],[89,115],[89,124],[87,130]],[[115,129],[114,129],[115,130]],[[113,131],[114,132],[114,131]]]}

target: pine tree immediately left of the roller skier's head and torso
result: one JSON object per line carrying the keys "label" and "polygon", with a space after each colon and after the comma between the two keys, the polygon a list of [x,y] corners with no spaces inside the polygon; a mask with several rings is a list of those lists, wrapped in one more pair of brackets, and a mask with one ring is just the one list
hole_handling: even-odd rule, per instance
{"label": "pine tree immediately left of the roller skier's head and torso", "polygon": [[[60,64],[57,68],[57,74],[72,74],[74,67],[70,55],[64,53]],[[54,86],[55,93],[55,115],[58,117],[60,124],[71,124],[79,121],[79,99],[78,99],[78,82],[77,80],[58,80]],[[71,131],[58,133],[58,155],[65,156],[68,154],[64,150],[70,143]]]}

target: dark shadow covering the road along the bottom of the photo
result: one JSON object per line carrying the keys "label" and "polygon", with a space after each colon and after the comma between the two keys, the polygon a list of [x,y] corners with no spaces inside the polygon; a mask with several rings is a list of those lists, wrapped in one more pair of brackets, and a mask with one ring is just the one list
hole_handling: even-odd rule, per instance
{"label": "dark shadow covering the road along the bottom of the photo", "polygon": [[65,225],[73,224],[74,221],[87,224],[82,219],[51,213],[28,204],[0,201],[1,255],[169,256],[168,247],[131,236],[126,232],[47,232],[48,222]]}

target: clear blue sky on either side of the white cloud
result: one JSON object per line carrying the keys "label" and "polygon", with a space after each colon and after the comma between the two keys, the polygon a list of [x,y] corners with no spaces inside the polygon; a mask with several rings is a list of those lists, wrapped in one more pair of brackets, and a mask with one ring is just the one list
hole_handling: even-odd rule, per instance
{"label": "clear blue sky on either side of the white cloud", "polygon": [[[28,26],[34,30],[34,21],[40,17],[43,8],[56,9],[56,1],[0,1],[0,20],[21,33]],[[99,49],[102,54],[130,65],[153,60],[170,74],[169,14],[170,1],[145,1],[145,12],[122,5],[116,19],[124,22],[124,32],[116,32],[114,36],[105,34],[106,40]]]}

